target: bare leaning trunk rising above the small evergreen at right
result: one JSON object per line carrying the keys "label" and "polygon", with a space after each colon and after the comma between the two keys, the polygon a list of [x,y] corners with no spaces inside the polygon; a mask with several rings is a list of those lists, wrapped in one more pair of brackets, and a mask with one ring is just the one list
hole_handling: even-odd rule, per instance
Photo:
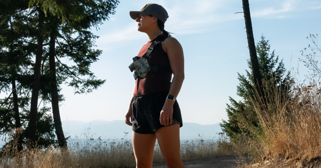
{"label": "bare leaning trunk rising above the small evergreen at right", "polygon": [[256,86],[256,91],[259,92],[259,96],[261,97],[262,103],[265,104],[265,94],[263,91],[263,83],[260,73],[260,66],[257,60],[256,55],[256,48],[255,48],[255,42],[253,37],[253,29],[252,29],[252,21],[251,21],[251,15],[250,15],[250,7],[248,4],[248,0],[242,0],[243,2],[243,12],[244,12],[244,20],[245,20],[245,27],[246,27],[246,34],[247,34],[247,43],[248,43],[248,49],[250,51],[250,58],[252,63],[252,71],[253,71],[253,77],[254,82]]}

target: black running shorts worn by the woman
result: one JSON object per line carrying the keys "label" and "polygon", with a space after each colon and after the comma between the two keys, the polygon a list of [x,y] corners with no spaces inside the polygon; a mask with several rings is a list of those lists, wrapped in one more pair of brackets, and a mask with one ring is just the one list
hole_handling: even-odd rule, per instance
{"label": "black running shorts worn by the woman", "polygon": [[[164,125],[160,124],[160,111],[165,104],[168,92],[154,92],[134,96],[133,131],[141,134],[155,133]],[[173,124],[183,126],[181,112],[177,101],[173,105]],[[166,125],[169,126],[169,125]]]}

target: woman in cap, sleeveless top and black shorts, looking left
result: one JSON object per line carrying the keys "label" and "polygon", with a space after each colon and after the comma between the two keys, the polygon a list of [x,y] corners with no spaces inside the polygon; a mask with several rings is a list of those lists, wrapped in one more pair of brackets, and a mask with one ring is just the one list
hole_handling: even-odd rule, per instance
{"label": "woman in cap, sleeveless top and black shorts, looking left", "polygon": [[[182,46],[164,30],[168,14],[162,6],[146,4],[141,11],[130,11],[130,16],[149,40],[130,65],[131,70],[135,69],[136,84],[125,116],[126,124],[133,126],[137,168],[152,167],[156,139],[167,166],[183,168],[179,140],[183,123],[176,101],[184,80]],[[144,73],[143,61],[148,65]]]}

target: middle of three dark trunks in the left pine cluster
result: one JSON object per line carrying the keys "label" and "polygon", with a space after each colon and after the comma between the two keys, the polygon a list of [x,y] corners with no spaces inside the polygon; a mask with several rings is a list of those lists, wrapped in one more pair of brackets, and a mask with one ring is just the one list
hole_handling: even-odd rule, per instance
{"label": "middle of three dark trunks in the left pine cluster", "polygon": [[36,121],[37,121],[37,108],[38,108],[38,96],[39,96],[39,83],[40,83],[40,68],[42,59],[42,47],[43,47],[43,23],[45,14],[39,8],[38,16],[38,41],[37,41],[37,52],[36,52],[36,62],[33,73],[33,83],[31,92],[31,102],[30,102],[30,120],[29,120],[29,130],[28,139],[31,148],[34,147],[36,141]]}

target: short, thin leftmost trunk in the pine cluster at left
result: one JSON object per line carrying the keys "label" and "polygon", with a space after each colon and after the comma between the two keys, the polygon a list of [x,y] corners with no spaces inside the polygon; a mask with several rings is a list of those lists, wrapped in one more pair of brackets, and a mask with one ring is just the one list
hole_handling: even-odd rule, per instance
{"label": "short, thin leftmost trunk in the pine cluster at left", "polygon": [[14,109],[14,120],[16,124],[16,134],[15,141],[18,152],[22,151],[22,130],[21,130],[21,121],[20,121],[20,113],[18,107],[18,96],[16,89],[16,80],[12,80],[12,93],[13,93],[13,109]]}

